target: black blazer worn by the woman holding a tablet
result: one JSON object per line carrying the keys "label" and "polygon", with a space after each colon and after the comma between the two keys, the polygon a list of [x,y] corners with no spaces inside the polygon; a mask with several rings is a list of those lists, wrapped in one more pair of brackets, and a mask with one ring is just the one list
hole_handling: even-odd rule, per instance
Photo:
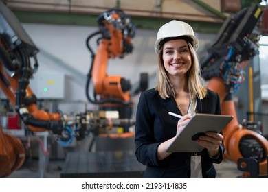
{"label": "black blazer worn by the woman holding a tablet", "polygon": [[[155,88],[144,91],[139,97],[135,123],[135,155],[146,165],[144,178],[188,178],[190,176],[191,153],[172,153],[164,160],[157,159],[157,147],[172,138],[177,130],[177,117],[181,115],[174,97],[162,99]],[[221,114],[219,95],[211,90],[204,99],[197,100],[198,113]],[[187,145],[187,143],[186,143]],[[210,158],[206,149],[201,152],[203,178],[215,178],[213,163],[223,160],[224,145],[220,147],[218,158]]]}

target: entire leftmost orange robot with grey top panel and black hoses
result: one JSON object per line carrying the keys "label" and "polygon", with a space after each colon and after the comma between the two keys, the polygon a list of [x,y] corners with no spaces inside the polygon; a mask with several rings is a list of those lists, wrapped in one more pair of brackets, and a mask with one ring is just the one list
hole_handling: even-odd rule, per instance
{"label": "entire leftmost orange robot with grey top panel and black hoses", "polygon": [[[74,138],[69,121],[61,112],[39,110],[29,82],[38,69],[38,48],[27,35],[16,16],[0,1],[0,88],[19,119],[31,132],[51,131],[57,141]],[[70,123],[71,122],[71,123]],[[79,131],[77,132],[79,134]],[[19,169],[25,160],[21,141],[0,128],[0,177]]]}

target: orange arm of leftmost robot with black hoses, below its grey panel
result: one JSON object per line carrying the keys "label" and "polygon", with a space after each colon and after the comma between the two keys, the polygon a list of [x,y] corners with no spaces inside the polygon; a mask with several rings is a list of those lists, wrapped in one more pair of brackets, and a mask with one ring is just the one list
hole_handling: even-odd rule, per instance
{"label": "orange arm of leftmost robot with black hoses, below its grey panel", "polygon": [[[5,40],[1,37],[0,54],[0,88],[15,107],[23,122],[29,125],[28,127],[33,132],[54,130],[56,123],[58,123],[58,127],[62,127],[59,114],[38,110],[36,106],[37,99],[28,86],[29,79],[32,77],[32,68],[27,51],[23,47],[14,51],[8,50]],[[15,60],[19,60],[19,64],[13,64],[8,55],[18,56]]]}

